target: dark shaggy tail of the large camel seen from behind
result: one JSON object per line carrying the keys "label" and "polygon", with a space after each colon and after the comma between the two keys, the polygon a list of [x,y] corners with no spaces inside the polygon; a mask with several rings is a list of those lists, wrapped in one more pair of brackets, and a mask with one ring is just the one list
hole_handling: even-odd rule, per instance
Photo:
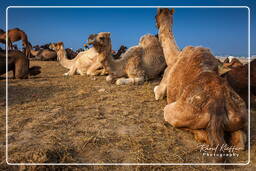
{"label": "dark shaggy tail of the large camel seen from behind", "polygon": [[217,102],[215,101],[212,103],[211,107],[209,108],[209,113],[211,114],[211,119],[206,130],[208,132],[208,138],[211,147],[217,147],[216,151],[212,151],[214,162],[224,163],[226,162],[226,158],[223,156],[223,152],[221,151],[221,146],[226,144],[224,139],[224,128],[226,125],[225,123],[227,117],[224,101],[219,99]]}

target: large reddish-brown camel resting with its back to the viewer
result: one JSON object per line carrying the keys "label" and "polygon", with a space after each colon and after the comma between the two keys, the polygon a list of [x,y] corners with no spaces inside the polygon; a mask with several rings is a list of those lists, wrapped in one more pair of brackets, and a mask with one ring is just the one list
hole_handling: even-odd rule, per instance
{"label": "large reddish-brown camel resting with its back to the viewer", "polygon": [[[177,52],[171,31],[174,10],[158,9],[158,35],[169,67],[164,119],[190,130],[195,138],[216,147],[230,143],[245,148],[246,104],[218,74],[218,60],[209,49],[185,47]],[[177,55],[173,55],[177,53]],[[221,151],[217,151],[221,153]],[[217,159],[217,158],[215,158]],[[218,158],[216,162],[223,162]]]}

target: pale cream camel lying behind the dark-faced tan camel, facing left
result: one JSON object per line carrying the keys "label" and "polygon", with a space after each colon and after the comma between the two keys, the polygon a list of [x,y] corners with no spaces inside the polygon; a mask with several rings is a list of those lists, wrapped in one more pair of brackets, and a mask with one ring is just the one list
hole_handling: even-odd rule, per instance
{"label": "pale cream camel lying behind the dark-faced tan camel, facing left", "polygon": [[87,51],[80,52],[74,59],[69,60],[67,53],[64,49],[62,42],[52,43],[50,48],[57,52],[58,60],[60,64],[69,69],[64,75],[103,75],[105,74],[102,69],[101,63],[97,61],[98,53],[94,47]]}

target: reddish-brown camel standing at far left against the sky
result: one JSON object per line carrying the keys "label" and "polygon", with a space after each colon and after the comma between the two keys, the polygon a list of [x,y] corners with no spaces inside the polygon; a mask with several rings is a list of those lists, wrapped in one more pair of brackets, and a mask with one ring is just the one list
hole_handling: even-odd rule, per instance
{"label": "reddish-brown camel standing at far left against the sky", "polygon": [[[6,32],[3,34],[0,34],[0,42],[1,43],[6,43]],[[8,30],[8,47],[9,49],[13,49],[13,42],[22,40],[22,46],[25,48],[25,54],[27,57],[29,57],[30,55],[30,43],[28,42],[28,37],[26,35],[26,33],[22,30],[20,30],[19,28],[14,28],[14,29],[10,29]]]}

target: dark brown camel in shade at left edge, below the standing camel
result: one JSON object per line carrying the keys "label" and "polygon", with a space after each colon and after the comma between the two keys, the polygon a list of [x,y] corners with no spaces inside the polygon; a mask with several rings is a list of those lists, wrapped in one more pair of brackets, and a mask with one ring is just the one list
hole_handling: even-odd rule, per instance
{"label": "dark brown camel in shade at left edge, below the standing camel", "polygon": [[[6,52],[0,51],[0,75],[6,73]],[[24,53],[18,50],[8,51],[8,71],[13,71],[13,78],[28,78],[29,75],[40,74],[41,67],[29,68],[29,60]]]}

